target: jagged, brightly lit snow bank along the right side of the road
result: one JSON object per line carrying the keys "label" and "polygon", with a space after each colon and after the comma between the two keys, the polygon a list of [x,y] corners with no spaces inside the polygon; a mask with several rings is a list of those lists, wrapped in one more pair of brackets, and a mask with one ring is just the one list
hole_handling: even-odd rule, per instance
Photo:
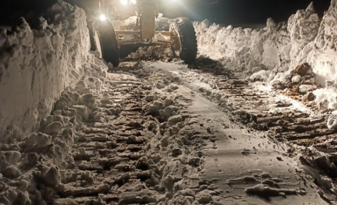
{"label": "jagged, brightly lit snow bank along the right side of the road", "polygon": [[[287,89],[289,83],[321,85],[325,88],[313,92],[316,103],[326,104],[322,109],[336,110],[337,91],[333,83],[337,79],[336,13],[337,1],[332,0],[323,19],[311,3],[306,10],[293,14],[288,22],[276,24],[268,19],[264,29],[224,28],[210,25],[208,20],[194,22],[198,51],[224,65],[230,63],[233,70],[252,74],[252,81],[269,81],[276,89]],[[294,76],[296,67],[305,63],[312,72]]]}

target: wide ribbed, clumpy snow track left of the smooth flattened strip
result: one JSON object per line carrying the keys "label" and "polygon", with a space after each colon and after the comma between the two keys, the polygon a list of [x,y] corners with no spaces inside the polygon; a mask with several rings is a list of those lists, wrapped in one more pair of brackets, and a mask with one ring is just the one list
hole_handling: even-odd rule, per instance
{"label": "wide ribbed, clumpy snow track left of the smooth flattened strip", "polygon": [[[133,69],[136,75],[144,72]],[[189,99],[173,92],[179,89],[178,79],[164,73],[142,76],[137,84],[128,83],[130,79],[124,85],[106,81],[105,93],[113,95],[98,97],[98,110],[107,113],[105,121],[85,122],[79,131],[68,167],[60,171],[64,189],[53,204],[212,200],[208,182],[198,176],[204,143],[189,126],[194,124],[184,110]]]}

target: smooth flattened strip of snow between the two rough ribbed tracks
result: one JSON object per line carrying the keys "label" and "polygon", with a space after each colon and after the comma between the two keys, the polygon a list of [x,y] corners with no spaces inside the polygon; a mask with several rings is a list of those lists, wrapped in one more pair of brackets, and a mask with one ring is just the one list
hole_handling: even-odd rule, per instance
{"label": "smooth flattened strip of snow between the two rough ribbed tracks", "polygon": [[212,195],[219,204],[328,204],[316,194],[319,188],[313,179],[284,156],[286,145],[264,133],[242,129],[199,92],[200,88],[208,89],[209,83],[198,83],[196,76],[195,80],[183,80],[191,71],[179,64],[156,62],[144,69],[182,79],[176,93],[191,100],[190,118],[185,124],[199,137],[208,138],[204,140],[204,169],[199,173],[207,186],[201,195]]}

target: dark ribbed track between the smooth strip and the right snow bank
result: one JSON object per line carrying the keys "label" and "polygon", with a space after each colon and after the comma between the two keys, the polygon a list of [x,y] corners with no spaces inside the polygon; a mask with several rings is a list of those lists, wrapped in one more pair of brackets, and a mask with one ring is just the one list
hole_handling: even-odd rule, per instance
{"label": "dark ribbed track between the smooth strip and the right snow bank", "polygon": [[[290,98],[285,100],[287,97],[279,97],[271,90],[256,88],[248,80],[223,70],[215,61],[213,64],[196,64],[192,68],[200,79],[207,78],[208,84],[213,87],[199,91],[232,115],[232,121],[239,122],[242,128],[265,132],[264,137],[274,140],[274,146],[283,149],[285,152],[282,154],[286,157],[303,154],[298,160],[299,166],[305,161],[306,166],[319,172],[318,178],[318,175],[313,176],[319,181],[319,187],[335,189],[331,179],[327,179],[327,183],[320,182],[324,180],[321,176],[335,178],[333,173],[337,171],[337,161],[332,154],[337,148],[334,140],[337,134],[327,127],[328,115],[317,114],[305,106],[299,107],[299,102],[294,103]],[[282,147],[279,142],[287,142],[289,147]]]}

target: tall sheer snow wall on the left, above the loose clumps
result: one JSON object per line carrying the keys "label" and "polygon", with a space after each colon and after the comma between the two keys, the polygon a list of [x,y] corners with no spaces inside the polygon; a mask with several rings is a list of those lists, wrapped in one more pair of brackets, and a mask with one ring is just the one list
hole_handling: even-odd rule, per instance
{"label": "tall sheer snow wall on the left, above the loose clumps", "polygon": [[21,134],[37,129],[84,74],[90,44],[84,11],[59,1],[46,16],[51,23],[41,17],[37,30],[23,18],[11,32],[0,30],[0,136],[13,127]]}

